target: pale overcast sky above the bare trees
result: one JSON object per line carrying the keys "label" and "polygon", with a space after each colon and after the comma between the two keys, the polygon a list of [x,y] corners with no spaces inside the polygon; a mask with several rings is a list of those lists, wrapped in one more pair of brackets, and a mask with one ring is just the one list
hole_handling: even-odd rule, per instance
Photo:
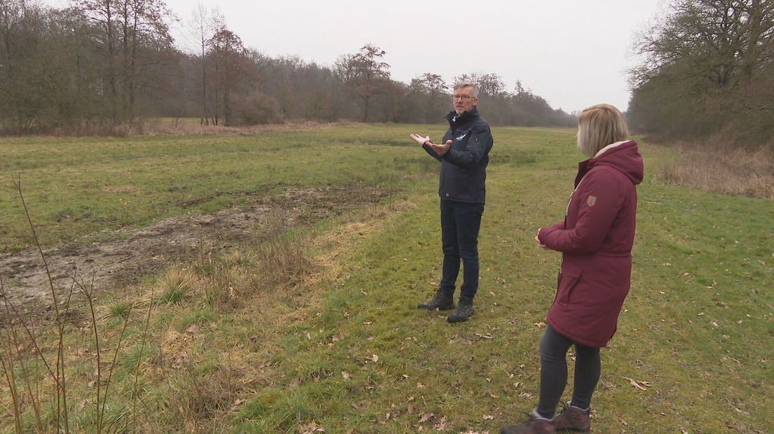
{"label": "pale overcast sky above the bare trees", "polygon": [[[603,102],[626,109],[633,37],[665,7],[665,0],[200,3],[217,8],[245,46],[272,57],[296,55],[330,66],[372,43],[386,51],[394,80],[438,73],[451,82],[463,73],[496,73],[508,90],[521,80],[567,112]],[[198,2],[166,4],[180,18],[172,29],[176,43],[192,45],[185,27]]]}

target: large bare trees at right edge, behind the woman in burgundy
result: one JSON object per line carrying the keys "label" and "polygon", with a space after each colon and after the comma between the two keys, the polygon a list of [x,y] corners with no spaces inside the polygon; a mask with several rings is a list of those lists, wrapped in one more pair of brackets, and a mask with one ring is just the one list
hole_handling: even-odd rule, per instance
{"label": "large bare trees at right edge, behind the woman in burgundy", "polygon": [[637,46],[632,127],[774,147],[774,2],[676,0]]}

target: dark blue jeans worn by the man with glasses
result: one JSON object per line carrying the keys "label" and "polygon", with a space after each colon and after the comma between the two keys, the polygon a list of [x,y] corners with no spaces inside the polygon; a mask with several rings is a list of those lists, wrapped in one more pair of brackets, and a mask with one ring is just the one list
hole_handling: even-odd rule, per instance
{"label": "dark blue jeans worn by the man with glasses", "polygon": [[484,204],[440,201],[440,229],[444,244],[444,276],[440,290],[454,293],[460,259],[464,265],[460,296],[473,300],[478,290],[478,229]]}

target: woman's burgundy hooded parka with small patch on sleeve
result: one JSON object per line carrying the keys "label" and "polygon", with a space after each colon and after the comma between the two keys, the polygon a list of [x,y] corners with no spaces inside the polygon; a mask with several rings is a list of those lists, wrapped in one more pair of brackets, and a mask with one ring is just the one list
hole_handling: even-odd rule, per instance
{"label": "woman's burgundy hooded parka with small patch on sleeve", "polygon": [[635,141],[604,147],[579,164],[565,221],[539,231],[540,242],[563,253],[548,322],[578,344],[605,347],[615,334],[631,284],[642,173]]}

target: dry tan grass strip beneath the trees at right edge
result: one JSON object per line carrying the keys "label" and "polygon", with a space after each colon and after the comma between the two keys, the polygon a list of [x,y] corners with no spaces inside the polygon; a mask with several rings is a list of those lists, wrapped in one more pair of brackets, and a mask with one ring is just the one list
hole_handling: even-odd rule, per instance
{"label": "dry tan grass strip beneath the trees at right edge", "polygon": [[734,148],[721,141],[676,142],[680,156],[656,169],[656,178],[706,192],[774,198],[774,150]]}

